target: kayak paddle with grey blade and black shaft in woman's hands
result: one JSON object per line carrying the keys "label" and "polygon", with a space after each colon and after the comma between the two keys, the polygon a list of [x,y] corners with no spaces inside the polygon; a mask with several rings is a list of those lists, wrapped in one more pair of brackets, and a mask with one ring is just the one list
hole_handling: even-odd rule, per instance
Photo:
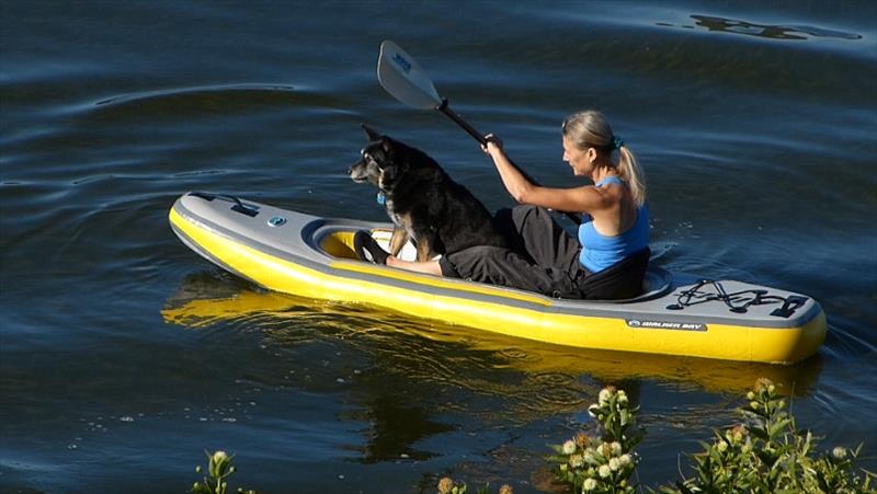
{"label": "kayak paddle with grey blade and black shaft in woman's hands", "polygon": [[[441,97],[426,72],[413,57],[408,55],[396,43],[387,39],[380,44],[377,57],[377,80],[390,95],[408,106],[421,110],[437,110],[466,130],[481,146],[487,145],[485,136],[469,125],[462,116],[451,110],[447,99]],[[524,177],[535,185],[538,183],[526,172],[515,165]],[[581,218],[573,212],[565,212],[576,225]]]}

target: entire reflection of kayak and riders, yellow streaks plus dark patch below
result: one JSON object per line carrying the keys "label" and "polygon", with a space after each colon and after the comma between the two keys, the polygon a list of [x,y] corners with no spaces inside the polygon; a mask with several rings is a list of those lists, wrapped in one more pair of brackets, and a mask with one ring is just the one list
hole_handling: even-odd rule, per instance
{"label": "entire reflection of kayak and riders, yellow streaks plus dark patch below", "polygon": [[[481,430],[523,428],[567,416],[570,429],[586,427],[588,404],[610,383],[627,390],[635,403],[654,384],[674,393],[720,393],[718,400],[677,409],[656,403],[649,392],[649,405],[660,412],[643,415],[645,424],[697,428],[728,415],[729,400],[738,400],[759,377],[805,395],[822,367],[819,358],[782,367],[568,348],[264,291],[219,271],[185,277],[161,315],[194,331],[258,334],[289,363],[283,370],[286,387],[326,393],[341,382],[348,405],[337,417],[352,424],[357,438],[346,439],[343,449],[362,464],[429,460],[440,452],[425,445],[474,440],[459,436],[468,424]],[[285,413],[296,422],[300,412]],[[434,437],[441,440],[429,440]]]}

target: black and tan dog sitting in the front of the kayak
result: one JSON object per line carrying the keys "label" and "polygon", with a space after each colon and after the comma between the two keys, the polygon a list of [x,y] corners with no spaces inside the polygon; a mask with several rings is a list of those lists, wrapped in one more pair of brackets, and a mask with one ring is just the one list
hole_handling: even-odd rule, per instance
{"label": "black and tan dog sitting in the front of the kayak", "polygon": [[348,174],[383,193],[394,223],[390,254],[398,255],[409,240],[414,242],[418,261],[476,245],[509,246],[485,205],[435,160],[367,125],[363,129],[368,145]]}

